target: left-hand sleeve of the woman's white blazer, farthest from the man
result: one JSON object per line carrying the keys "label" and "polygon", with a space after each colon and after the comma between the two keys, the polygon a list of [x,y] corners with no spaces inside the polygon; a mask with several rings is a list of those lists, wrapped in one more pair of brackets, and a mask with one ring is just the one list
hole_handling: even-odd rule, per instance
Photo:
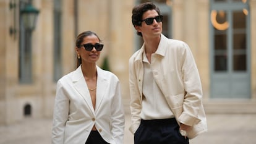
{"label": "left-hand sleeve of the woman's white blazer, farthest from the man", "polygon": [[69,114],[69,98],[61,82],[57,83],[53,111],[52,144],[64,143],[65,125]]}

